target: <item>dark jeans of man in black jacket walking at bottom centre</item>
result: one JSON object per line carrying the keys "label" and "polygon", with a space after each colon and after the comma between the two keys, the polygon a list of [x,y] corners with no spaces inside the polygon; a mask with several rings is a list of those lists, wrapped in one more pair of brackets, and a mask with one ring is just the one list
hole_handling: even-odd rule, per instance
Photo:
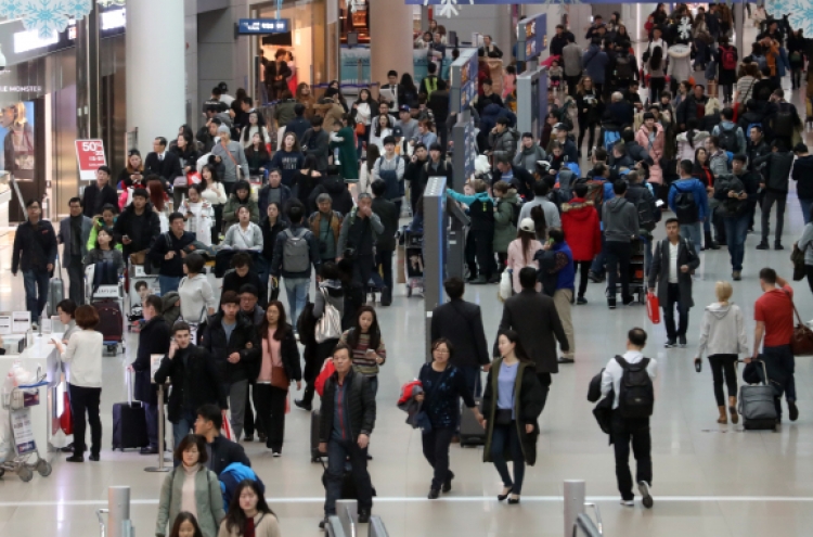
{"label": "dark jeans of man in black jacket walking at bottom centre", "polygon": [[327,471],[325,472],[325,515],[336,514],[336,500],[341,497],[345,468],[350,460],[350,473],[359,496],[359,511],[373,509],[373,485],[367,472],[367,450],[352,440],[331,438],[327,443]]}

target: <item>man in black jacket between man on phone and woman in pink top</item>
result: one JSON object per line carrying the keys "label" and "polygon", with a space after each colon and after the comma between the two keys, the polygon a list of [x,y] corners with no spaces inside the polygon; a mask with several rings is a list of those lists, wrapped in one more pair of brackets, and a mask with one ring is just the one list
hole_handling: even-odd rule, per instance
{"label": "man in black jacket between man on phone and woman in pink top", "polygon": [[227,291],[220,298],[220,312],[209,319],[201,341],[217,365],[223,394],[229,397],[232,431],[237,440],[243,434],[248,379],[261,349],[254,323],[238,312],[240,297]]}

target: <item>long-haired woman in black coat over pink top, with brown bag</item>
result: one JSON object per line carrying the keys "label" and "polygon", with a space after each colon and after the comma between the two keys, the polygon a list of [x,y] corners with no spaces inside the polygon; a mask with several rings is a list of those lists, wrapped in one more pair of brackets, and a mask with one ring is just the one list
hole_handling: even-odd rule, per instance
{"label": "long-haired woman in black coat over pink top, with brown bag", "polygon": [[288,388],[293,381],[296,381],[297,389],[302,387],[299,347],[296,345],[294,329],[285,321],[285,307],[280,301],[268,303],[258,332],[262,358],[255,372],[257,431],[266,436],[266,447],[271,449],[274,457],[280,457],[285,436],[285,400],[288,398]]}

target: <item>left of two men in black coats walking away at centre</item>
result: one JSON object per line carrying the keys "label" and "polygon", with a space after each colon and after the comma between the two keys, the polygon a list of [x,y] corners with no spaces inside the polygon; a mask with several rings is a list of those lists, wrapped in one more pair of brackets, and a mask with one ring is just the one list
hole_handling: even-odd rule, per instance
{"label": "left of two men in black coats walking away at centre", "polygon": [[479,397],[480,368],[488,371],[491,363],[480,306],[463,299],[466,286],[460,278],[449,278],[443,289],[449,302],[431,312],[431,341],[446,337],[452,342],[450,361],[463,371],[468,391]]}

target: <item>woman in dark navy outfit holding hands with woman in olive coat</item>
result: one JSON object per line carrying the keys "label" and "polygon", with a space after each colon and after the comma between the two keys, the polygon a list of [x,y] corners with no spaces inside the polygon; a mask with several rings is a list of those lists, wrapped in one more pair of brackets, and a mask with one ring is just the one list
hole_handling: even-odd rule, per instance
{"label": "woman in dark navy outfit holding hands with woman in olive coat", "polygon": [[441,490],[448,493],[452,489],[454,473],[449,470],[449,445],[457,430],[460,397],[463,397],[463,402],[474,412],[477,421],[482,419],[466,386],[465,374],[449,363],[453,351],[449,340],[436,340],[431,344],[431,363],[424,363],[418,373],[424,393],[415,399],[423,402],[422,411],[426,412],[431,424],[421,437],[424,457],[435,470],[429,486],[430,500],[437,499]]}

